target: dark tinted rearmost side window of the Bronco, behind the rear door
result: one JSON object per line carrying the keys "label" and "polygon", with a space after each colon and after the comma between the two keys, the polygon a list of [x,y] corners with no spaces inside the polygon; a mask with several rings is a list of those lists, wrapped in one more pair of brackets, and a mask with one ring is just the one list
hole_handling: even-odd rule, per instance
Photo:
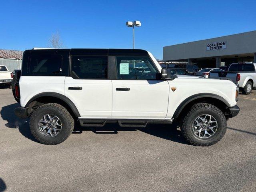
{"label": "dark tinted rearmost side window of the Bronco, behind the rear door", "polygon": [[59,76],[62,74],[61,55],[30,56],[28,59],[27,75],[30,76]]}

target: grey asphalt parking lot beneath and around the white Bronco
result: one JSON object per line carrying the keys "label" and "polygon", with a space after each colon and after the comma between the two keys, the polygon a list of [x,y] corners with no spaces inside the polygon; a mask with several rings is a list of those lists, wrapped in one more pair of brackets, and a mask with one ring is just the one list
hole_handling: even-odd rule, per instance
{"label": "grey asphalt parking lot beneath and around the white Bronco", "polygon": [[82,128],[56,146],[34,141],[0,87],[2,191],[255,191],[256,90],[240,94],[240,114],[210,147],[188,144],[168,125]]}

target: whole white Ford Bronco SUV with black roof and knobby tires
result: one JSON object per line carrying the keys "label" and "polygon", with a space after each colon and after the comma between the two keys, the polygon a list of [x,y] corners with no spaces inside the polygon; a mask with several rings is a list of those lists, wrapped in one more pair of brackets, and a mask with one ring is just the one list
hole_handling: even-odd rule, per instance
{"label": "whole white Ford Bronco SUV with black roof and knobby tires", "polygon": [[130,49],[26,50],[15,84],[30,130],[42,144],[59,144],[74,123],[146,127],[178,122],[193,145],[210,146],[239,112],[230,80],[172,75],[150,52]]}

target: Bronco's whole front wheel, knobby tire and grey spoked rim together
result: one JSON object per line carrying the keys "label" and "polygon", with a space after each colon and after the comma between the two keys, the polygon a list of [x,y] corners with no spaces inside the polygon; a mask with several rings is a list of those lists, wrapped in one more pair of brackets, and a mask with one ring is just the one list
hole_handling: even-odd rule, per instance
{"label": "Bronco's whole front wheel, knobby tire and grey spoked rim together", "polygon": [[223,112],[208,103],[194,104],[181,122],[183,136],[195,146],[210,146],[219,142],[226,132]]}

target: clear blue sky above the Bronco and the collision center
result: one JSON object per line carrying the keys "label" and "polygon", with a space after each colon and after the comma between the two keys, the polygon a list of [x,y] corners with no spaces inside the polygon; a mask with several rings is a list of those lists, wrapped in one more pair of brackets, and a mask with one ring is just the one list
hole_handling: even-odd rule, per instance
{"label": "clear blue sky above the Bronco and the collision center", "polygon": [[59,31],[65,48],[135,48],[162,59],[163,46],[256,30],[255,0],[2,0],[0,49],[47,47]]}

